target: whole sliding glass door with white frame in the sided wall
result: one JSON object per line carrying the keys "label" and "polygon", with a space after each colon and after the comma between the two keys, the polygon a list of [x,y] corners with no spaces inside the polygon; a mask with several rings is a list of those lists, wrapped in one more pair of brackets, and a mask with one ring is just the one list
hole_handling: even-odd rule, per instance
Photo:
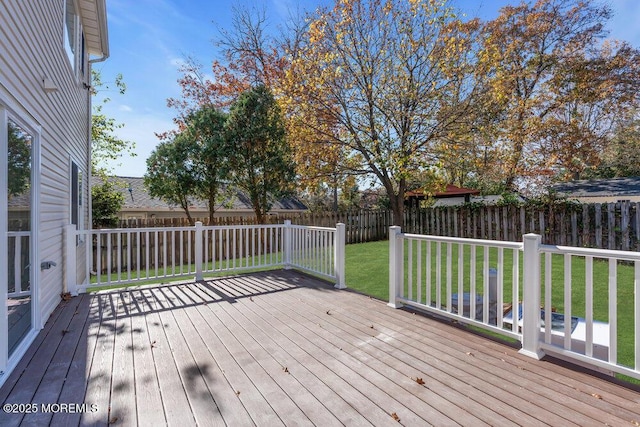
{"label": "whole sliding glass door with white frame in the sided wall", "polygon": [[[38,134],[0,104],[0,371],[33,336]],[[14,356],[12,358],[12,356]]]}

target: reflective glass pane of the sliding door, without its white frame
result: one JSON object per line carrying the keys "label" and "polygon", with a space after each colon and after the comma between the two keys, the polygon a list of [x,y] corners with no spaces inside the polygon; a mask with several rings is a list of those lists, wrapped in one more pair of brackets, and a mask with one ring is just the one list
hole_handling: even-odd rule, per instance
{"label": "reflective glass pane of the sliding door, without its white frame", "polygon": [[[7,117],[6,185],[7,269],[5,277],[8,343],[10,358],[32,330],[32,158],[33,135]],[[3,153],[4,154],[4,153]],[[4,160],[4,156],[0,157]],[[0,180],[2,182],[3,180]],[[2,274],[2,273],[0,273]],[[0,282],[1,283],[1,282]]]}

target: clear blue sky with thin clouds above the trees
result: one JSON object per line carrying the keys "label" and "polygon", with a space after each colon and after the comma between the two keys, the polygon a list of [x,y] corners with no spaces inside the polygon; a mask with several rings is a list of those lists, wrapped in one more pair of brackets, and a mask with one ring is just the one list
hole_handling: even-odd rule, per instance
{"label": "clear blue sky with thin clouds above the trees", "polygon": [[[257,6],[267,12],[269,26],[277,29],[289,10],[314,10],[331,0],[107,0],[109,45],[106,62],[94,65],[104,81],[122,73],[125,95],[102,93],[111,101],[104,112],[124,127],[117,134],[136,143],[135,157],[123,157],[111,165],[120,176],[143,176],[145,160],[158,143],[156,132],[173,128],[175,110],[167,107],[169,97],[180,95],[177,79],[186,56],[208,66],[219,53],[212,40],[219,29],[230,28],[233,5]],[[456,0],[469,16],[491,19],[500,7],[519,0]],[[614,17],[610,36],[640,48],[640,1],[609,0]]]}

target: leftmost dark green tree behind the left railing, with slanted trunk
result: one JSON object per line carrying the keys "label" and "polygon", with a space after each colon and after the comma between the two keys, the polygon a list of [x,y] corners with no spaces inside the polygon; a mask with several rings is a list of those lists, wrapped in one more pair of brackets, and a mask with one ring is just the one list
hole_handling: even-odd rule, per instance
{"label": "leftmost dark green tree behind the left railing, with slanted trunk", "polygon": [[198,196],[199,170],[193,159],[198,158],[199,147],[186,133],[173,140],[163,141],[147,159],[144,184],[151,197],[157,197],[184,210],[190,224],[194,224],[189,206]]}

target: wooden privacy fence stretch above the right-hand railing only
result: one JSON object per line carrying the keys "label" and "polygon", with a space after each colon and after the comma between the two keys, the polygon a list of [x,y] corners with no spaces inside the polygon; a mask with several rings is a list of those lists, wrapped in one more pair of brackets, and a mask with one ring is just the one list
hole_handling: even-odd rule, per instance
{"label": "wooden privacy fence stretch above the right-hand railing only", "polygon": [[408,211],[409,233],[640,251],[640,203],[470,206]]}

